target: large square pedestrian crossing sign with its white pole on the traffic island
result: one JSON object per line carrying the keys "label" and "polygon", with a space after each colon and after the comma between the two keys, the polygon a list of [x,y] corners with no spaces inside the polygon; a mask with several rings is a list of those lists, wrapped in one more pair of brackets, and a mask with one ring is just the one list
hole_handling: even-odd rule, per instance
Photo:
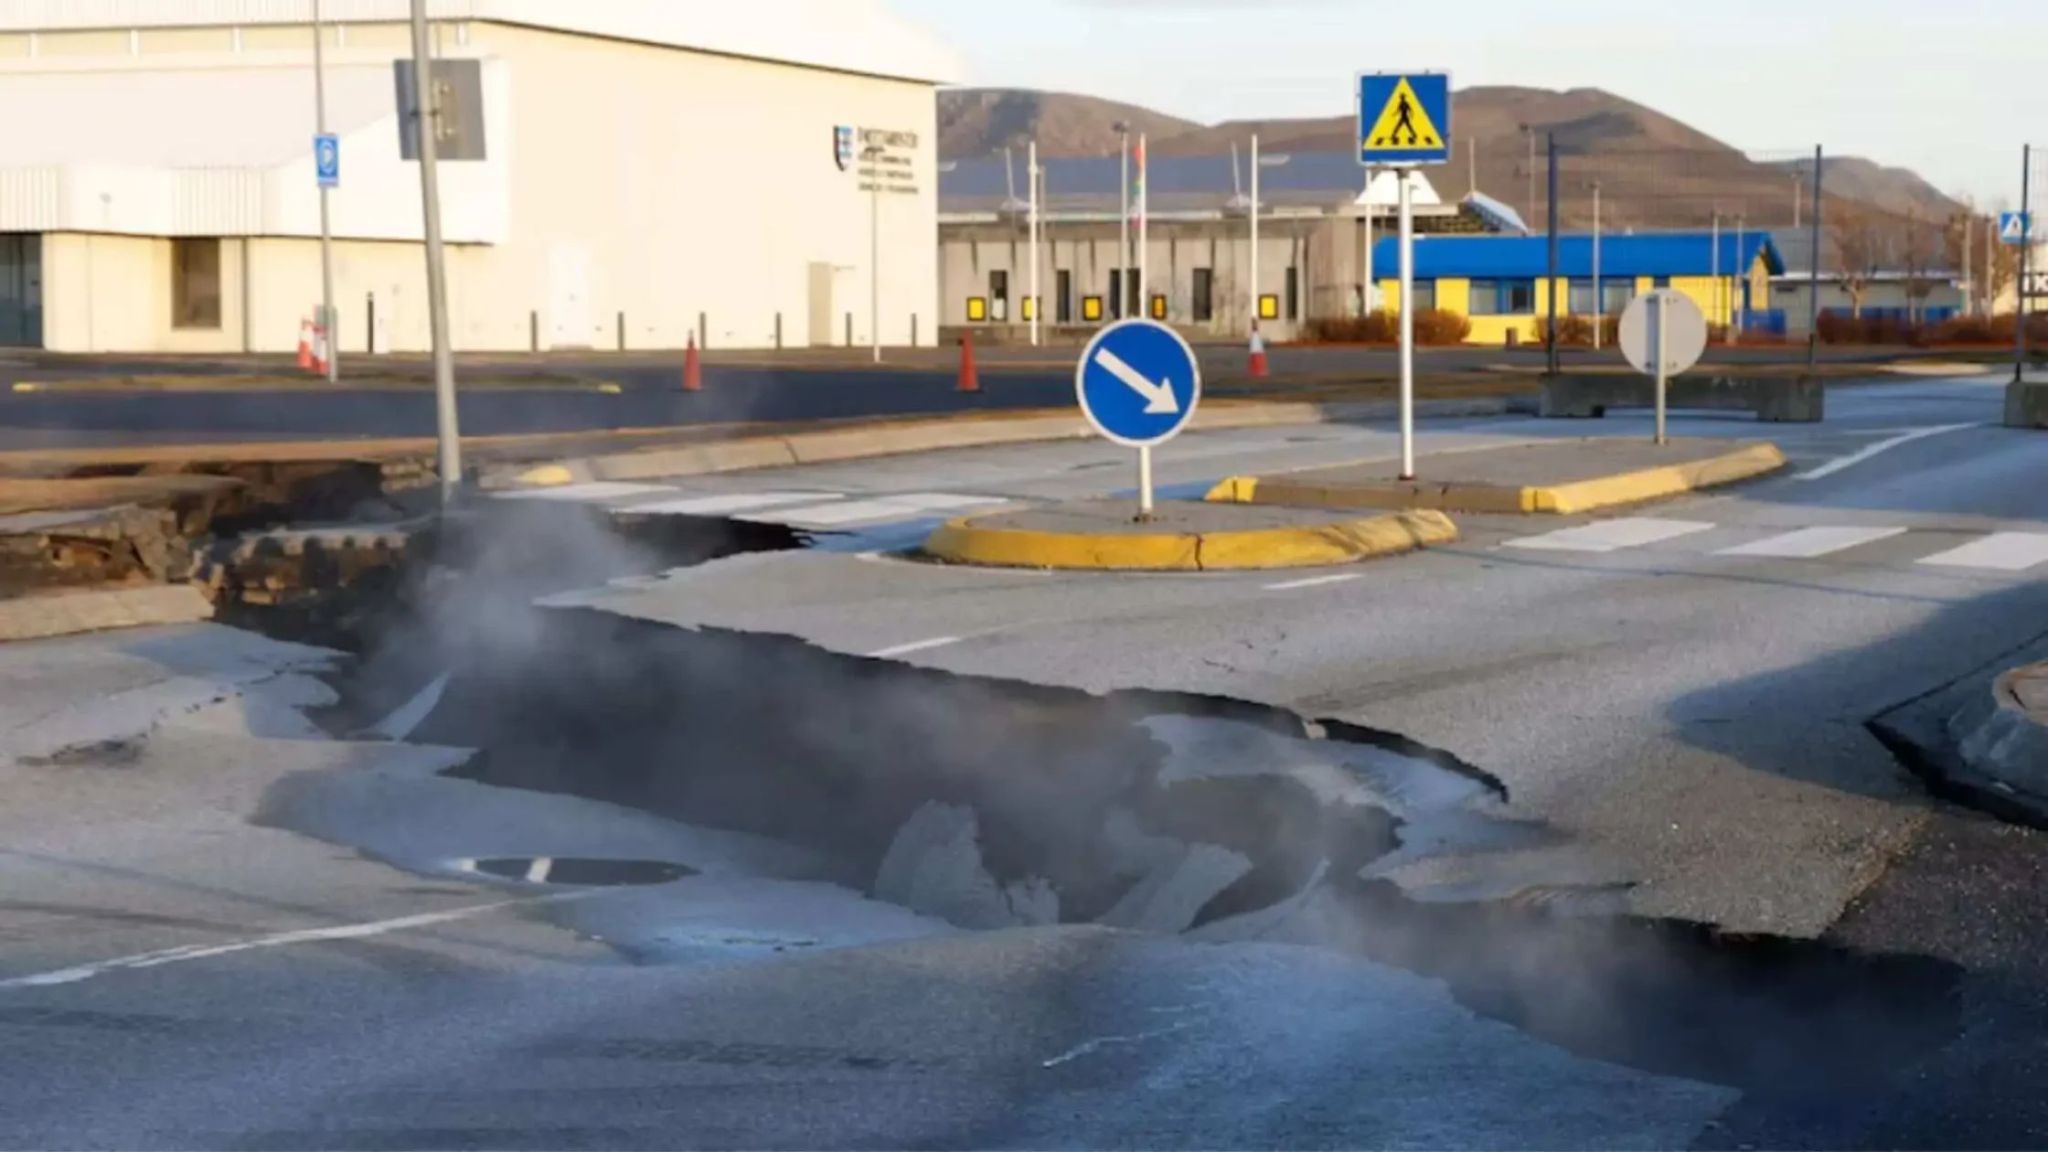
{"label": "large square pedestrian crossing sign with its white pole on the traffic island", "polygon": [[1415,480],[1415,193],[1409,174],[1419,164],[1450,162],[1450,76],[1362,74],[1358,162],[1393,168],[1401,184],[1401,480]]}

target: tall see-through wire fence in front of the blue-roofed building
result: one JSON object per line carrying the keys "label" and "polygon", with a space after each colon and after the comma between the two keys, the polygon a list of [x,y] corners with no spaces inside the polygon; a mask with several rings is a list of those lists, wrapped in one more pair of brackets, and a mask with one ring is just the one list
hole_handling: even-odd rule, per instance
{"label": "tall see-through wire fence in front of the blue-roofed building", "polygon": [[1538,301],[1552,361],[1612,338],[1628,299],[1659,287],[1700,305],[1718,361],[2013,340],[2019,248],[1999,242],[1993,205],[1821,146],[1556,133],[1544,152],[1530,225],[1550,238],[1561,289]]}

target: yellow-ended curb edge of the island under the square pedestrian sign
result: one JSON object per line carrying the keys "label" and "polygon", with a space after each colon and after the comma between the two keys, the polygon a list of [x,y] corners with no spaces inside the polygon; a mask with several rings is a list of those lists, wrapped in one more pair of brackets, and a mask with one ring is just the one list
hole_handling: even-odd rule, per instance
{"label": "yellow-ended curb edge of the island under the square pedestrian sign", "polygon": [[1446,508],[1454,512],[1573,515],[1681,496],[1751,480],[1786,465],[1778,445],[1755,443],[1712,459],[1597,476],[1573,484],[1507,488],[1495,484],[1307,484],[1262,476],[1231,476],[1208,490],[1227,504],[1292,504],[1300,508]]}

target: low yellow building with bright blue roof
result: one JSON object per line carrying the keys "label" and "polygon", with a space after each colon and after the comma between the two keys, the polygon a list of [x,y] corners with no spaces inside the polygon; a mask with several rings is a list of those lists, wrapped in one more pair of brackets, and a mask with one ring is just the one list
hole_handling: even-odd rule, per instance
{"label": "low yellow building with bright blue roof", "polygon": [[[1399,312],[1399,242],[1374,246],[1378,301]],[[1415,303],[1466,316],[1473,344],[1505,344],[1509,334],[1534,342],[1556,295],[1556,314],[1620,316],[1628,301],[1669,287],[1692,297],[1710,324],[1772,328],[1782,314],[1772,301],[1772,277],[1784,260],[1767,232],[1655,232],[1602,236],[1599,283],[1593,283],[1591,234],[1559,238],[1556,277],[1548,236],[1417,236]]]}

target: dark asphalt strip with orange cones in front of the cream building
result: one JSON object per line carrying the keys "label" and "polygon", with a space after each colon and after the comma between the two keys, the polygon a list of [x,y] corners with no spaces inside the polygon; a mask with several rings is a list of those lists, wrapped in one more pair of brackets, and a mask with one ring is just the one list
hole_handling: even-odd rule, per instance
{"label": "dark asphalt strip with orange cones in front of the cream building", "polygon": [[[465,357],[461,377],[528,375],[563,381],[610,381],[618,394],[590,387],[520,387],[461,394],[463,435],[498,437],[596,428],[647,428],[743,420],[834,420],[860,416],[922,416],[1001,408],[1065,406],[1073,400],[1071,363],[1077,348],[981,348],[991,371],[981,394],[963,396],[956,353],[950,348],[893,348],[889,363],[870,367],[846,351],[725,353],[705,365],[705,392],[684,394],[678,355],[543,355]],[[1204,344],[1210,373],[1243,369],[1243,351]],[[1939,353],[1823,348],[1829,363],[1876,363]],[[1804,363],[1804,348],[1714,348],[1710,363]],[[1567,365],[1618,363],[1616,353],[1571,348]],[[362,361],[354,361],[362,363]],[[1423,348],[1419,371],[1456,373],[1511,365],[1536,371],[1540,351]],[[379,375],[424,383],[430,371],[418,359],[369,361]],[[999,365],[1010,365],[995,371]],[[1276,348],[1278,379],[1309,373],[1395,373],[1391,348],[1303,346]],[[127,375],[289,375],[276,357],[51,357],[0,355],[0,379],[98,379]],[[0,451],[82,445],[147,445],[180,441],[264,439],[383,439],[434,435],[434,398],[428,389],[301,385],[289,392],[0,392]]]}

